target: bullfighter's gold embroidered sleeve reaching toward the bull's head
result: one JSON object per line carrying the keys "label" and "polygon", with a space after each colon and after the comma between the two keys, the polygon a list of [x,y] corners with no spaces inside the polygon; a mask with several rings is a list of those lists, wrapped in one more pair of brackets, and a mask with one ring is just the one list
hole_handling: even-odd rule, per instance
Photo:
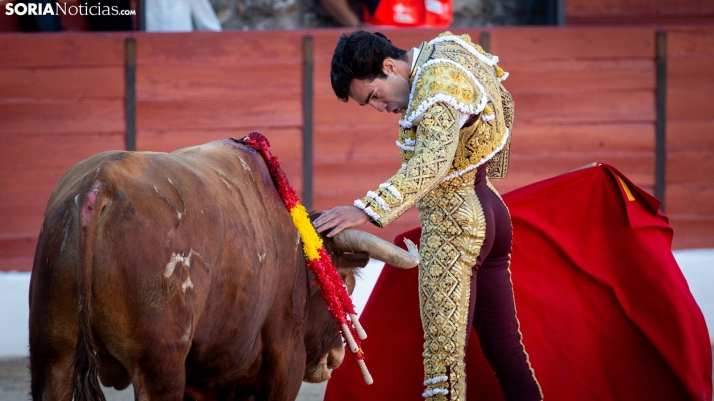
{"label": "bullfighter's gold embroidered sleeve reaching toward the bull's head", "polygon": [[436,187],[449,172],[459,144],[460,112],[436,103],[419,116],[414,156],[354,205],[384,227]]}

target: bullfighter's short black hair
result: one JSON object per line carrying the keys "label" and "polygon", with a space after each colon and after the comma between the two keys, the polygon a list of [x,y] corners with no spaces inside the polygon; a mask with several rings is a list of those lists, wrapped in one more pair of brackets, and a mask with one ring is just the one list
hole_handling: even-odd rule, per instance
{"label": "bullfighter's short black hair", "polygon": [[375,78],[386,78],[382,63],[387,57],[406,61],[407,52],[394,46],[379,32],[356,31],[349,35],[342,34],[332,55],[330,68],[330,80],[335,95],[346,102],[353,79],[371,81]]}

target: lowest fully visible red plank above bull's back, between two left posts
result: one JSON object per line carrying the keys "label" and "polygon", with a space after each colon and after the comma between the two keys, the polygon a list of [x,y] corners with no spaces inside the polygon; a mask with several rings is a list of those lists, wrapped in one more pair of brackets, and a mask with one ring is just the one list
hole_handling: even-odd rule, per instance
{"label": "lowest fully visible red plank above bull's back, between two left posts", "polygon": [[[237,94],[238,96],[239,94]],[[227,129],[298,127],[300,98],[269,94],[222,99],[144,100],[137,102],[137,129]],[[253,127],[253,128],[251,128]]]}

